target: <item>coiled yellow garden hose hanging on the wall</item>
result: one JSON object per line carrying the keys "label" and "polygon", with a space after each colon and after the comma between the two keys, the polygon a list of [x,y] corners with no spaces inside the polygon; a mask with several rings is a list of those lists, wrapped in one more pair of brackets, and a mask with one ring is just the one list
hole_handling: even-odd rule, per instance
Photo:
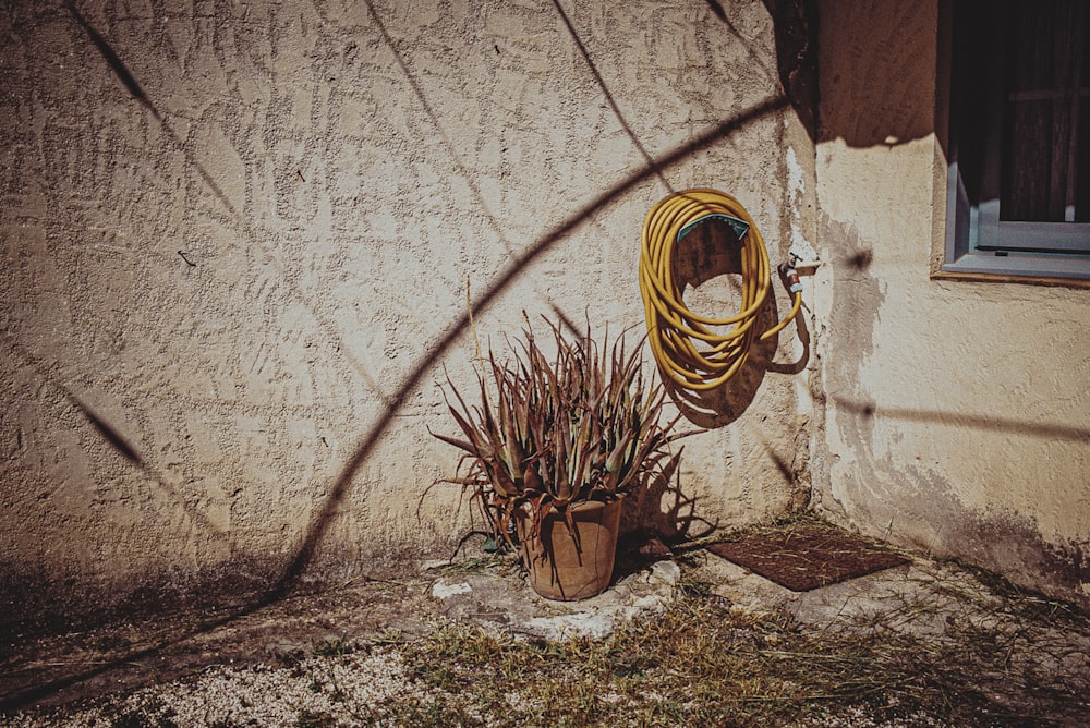
{"label": "coiled yellow garden hose hanging on the wall", "polygon": [[[689,311],[674,280],[674,246],[693,226],[707,218],[732,218],[749,226],[741,235],[741,311],[730,318],[710,318]],[[643,221],[640,240],[640,291],[647,318],[647,339],[659,368],[677,385],[692,390],[719,387],[732,377],[758,339],[775,336],[799,313],[802,287],[787,268],[791,310],[763,333],[756,318],[772,288],[764,239],[741,204],[717,190],[695,189],[667,195]],[[731,327],[718,333],[714,327]]]}

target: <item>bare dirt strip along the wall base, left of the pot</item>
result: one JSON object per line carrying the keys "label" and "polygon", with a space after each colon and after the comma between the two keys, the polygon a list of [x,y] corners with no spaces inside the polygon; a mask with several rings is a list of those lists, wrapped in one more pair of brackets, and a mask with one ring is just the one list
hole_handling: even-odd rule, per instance
{"label": "bare dirt strip along the wall base, left of the pot", "polygon": [[256,608],[147,617],[26,641],[13,635],[0,655],[0,715],[169,682],[211,665],[282,662],[346,635],[425,633],[439,620],[431,581],[351,582]]}

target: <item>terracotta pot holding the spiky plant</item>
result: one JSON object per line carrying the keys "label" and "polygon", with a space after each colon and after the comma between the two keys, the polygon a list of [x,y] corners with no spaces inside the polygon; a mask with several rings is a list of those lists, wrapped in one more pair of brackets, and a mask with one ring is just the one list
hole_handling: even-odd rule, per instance
{"label": "terracotta pot holding the spiky plant", "polygon": [[537,543],[529,536],[530,517],[520,511],[517,521],[522,562],[534,591],[560,602],[588,599],[604,592],[613,579],[620,511],[621,499],[573,506],[578,547],[559,514],[545,517]]}

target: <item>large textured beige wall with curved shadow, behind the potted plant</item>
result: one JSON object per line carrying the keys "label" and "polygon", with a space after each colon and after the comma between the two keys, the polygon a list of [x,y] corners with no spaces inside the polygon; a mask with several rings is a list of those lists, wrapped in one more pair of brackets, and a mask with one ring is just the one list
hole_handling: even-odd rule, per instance
{"label": "large textured beige wall with curved shadow, behind the potted plant", "polygon": [[[497,343],[523,310],[639,330],[639,226],[693,185],[736,194],[774,260],[809,246],[814,151],[764,4],[561,4],[593,69],[548,2],[0,12],[0,608],[445,554],[464,508],[417,502],[456,463],[427,428],[451,429],[443,367],[469,381],[468,279]],[[731,283],[701,300],[735,313]],[[658,526],[806,500],[813,357],[780,341]]]}

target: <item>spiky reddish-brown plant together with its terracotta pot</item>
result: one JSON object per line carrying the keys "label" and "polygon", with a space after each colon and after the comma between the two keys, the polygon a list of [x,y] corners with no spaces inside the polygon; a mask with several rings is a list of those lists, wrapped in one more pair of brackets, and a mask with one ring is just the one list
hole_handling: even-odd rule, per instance
{"label": "spiky reddish-brown plant together with its terracotta pot", "polygon": [[447,482],[471,489],[497,544],[520,548],[533,589],[572,600],[609,585],[622,498],[668,480],[680,450],[670,451],[677,418],[662,424],[665,390],[644,381],[639,349],[627,353],[623,336],[610,347],[608,332],[600,349],[590,332],[548,326],[552,356],[529,323],[510,361],[489,350],[475,404],[448,376],[463,437],[433,435],[464,452]]}

